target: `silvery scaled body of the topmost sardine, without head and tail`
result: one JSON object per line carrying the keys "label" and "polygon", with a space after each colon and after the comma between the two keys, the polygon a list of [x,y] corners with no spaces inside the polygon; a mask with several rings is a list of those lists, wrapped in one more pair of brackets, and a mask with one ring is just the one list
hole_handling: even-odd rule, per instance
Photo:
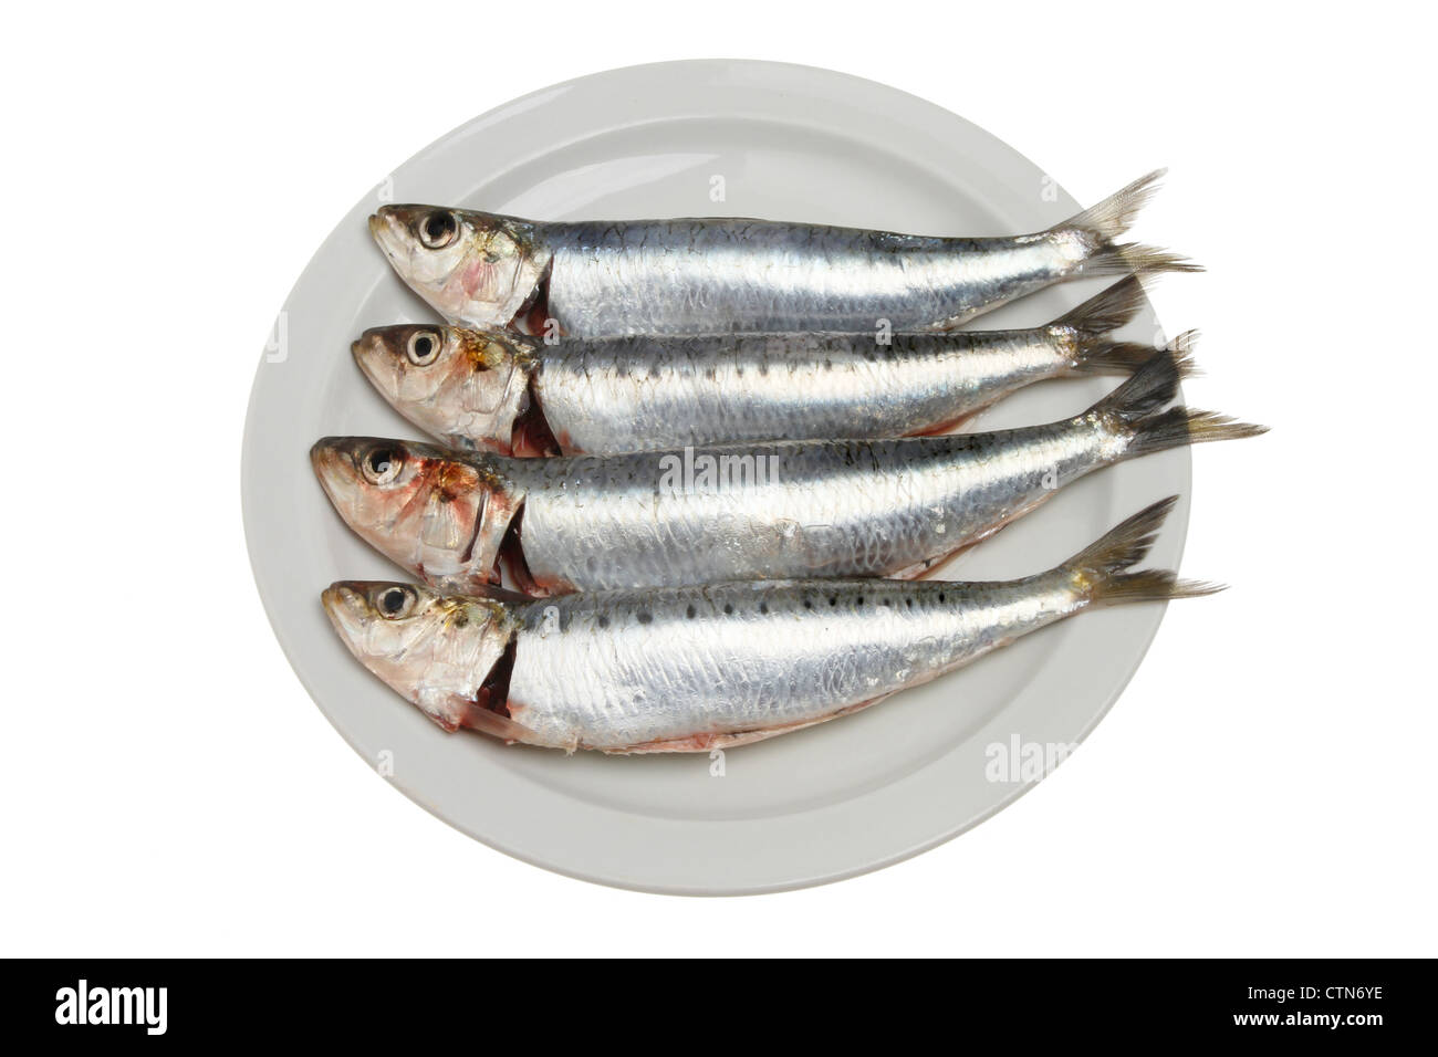
{"label": "silvery scaled body of the topmost sardine, without head and tail", "polygon": [[[542,227],[549,315],[565,334],[952,326],[1057,282],[1071,249],[1043,236],[936,239],[761,220]],[[689,296],[674,298],[673,292]]]}

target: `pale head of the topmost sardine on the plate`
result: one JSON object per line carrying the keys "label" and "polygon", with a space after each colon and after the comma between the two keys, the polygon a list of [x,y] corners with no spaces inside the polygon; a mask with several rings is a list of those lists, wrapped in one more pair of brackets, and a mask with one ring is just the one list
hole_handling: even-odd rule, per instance
{"label": "pale head of the topmost sardine on the plate", "polygon": [[370,233],[410,289],[466,326],[509,326],[549,266],[533,224],[493,213],[381,206]]}

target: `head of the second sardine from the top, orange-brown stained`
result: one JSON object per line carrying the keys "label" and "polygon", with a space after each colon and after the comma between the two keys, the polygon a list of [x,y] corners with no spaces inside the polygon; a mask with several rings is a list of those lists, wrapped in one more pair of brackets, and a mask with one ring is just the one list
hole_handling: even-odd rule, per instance
{"label": "head of the second sardine from the top, orange-brown stained", "polygon": [[406,418],[457,447],[512,452],[533,345],[518,335],[433,324],[374,326],[355,362]]}

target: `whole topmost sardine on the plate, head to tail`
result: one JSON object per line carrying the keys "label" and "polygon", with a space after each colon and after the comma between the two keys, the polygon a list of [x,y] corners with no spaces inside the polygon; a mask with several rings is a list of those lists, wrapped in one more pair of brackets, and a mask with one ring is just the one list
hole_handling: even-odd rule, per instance
{"label": "whole topmost sardine on the plate, head to tail", "polygon": [[1194,272],[1119,243],[1162,170],[1032,234],[942,237],[756,219],[538,221],[387,204],[370,233],[462,326],[577,338],[743,331],[948,331],[1080,276]]}

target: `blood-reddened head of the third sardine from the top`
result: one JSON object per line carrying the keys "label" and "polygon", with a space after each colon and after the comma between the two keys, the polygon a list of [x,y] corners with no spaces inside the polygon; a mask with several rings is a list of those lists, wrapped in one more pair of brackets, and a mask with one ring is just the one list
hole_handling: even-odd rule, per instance
{"label": "blood-reddened head of the third sardine from the top", "polygon": [[325,437],[309,459],[339,516],[390,561],[456,591],[498,582],[499,545],[519,500],[485,456]]}

